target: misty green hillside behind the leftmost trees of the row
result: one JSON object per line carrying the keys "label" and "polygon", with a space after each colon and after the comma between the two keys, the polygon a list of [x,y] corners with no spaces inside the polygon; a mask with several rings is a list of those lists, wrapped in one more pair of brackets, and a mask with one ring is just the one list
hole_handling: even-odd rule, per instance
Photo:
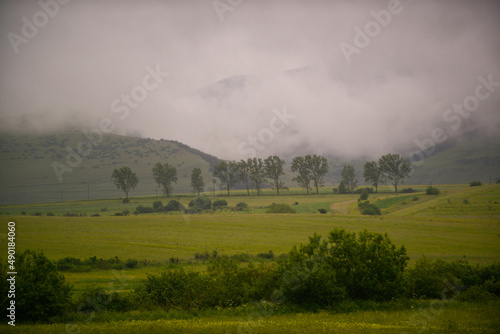
{"label": "misty green hillside behind the leftmost trees of the row", "polygon": [[[79,131],[1,136],[0,203],[120,197],[122,193],[111,181],[111,174],[125,165],[139,177],[139,185],[130,192],[131,196],[155,194],[161,191],[157,190],[151,173],[157,162],[168,162],[177,168],[179,181],[174,185],[175,192],[190,192],[192,169],[201,168],[205,180],[211,180],[210,165],[218,161],[175,141],[112,134],[103,136],[99,145],[92,145],[87,156],[69,156],[67,147],[77,150],[83,140],[86,138]],[[88,151],[84,146],[83,150]],[[60,169],[61,179],[53,164]]]}

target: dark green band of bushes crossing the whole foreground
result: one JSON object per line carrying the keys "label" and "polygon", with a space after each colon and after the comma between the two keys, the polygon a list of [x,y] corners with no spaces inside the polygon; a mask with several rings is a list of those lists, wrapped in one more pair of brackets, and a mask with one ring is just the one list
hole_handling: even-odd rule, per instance
{"label": "dark green band of bushes crossing the whole foreground", "polygon": [[[27,250],[16,262],[17,320],[74,319],[80,312],[220,310],[252,303],[276,310],[338,311],[365,301],[487,301],[500,297],[500,264],[480,267],[464,260],[422,257],[408,268],[404,246],[396,247],[387,234],[366,230],[356,234],[335,229],[326,240],[314,234],[286,256],[263,253],[266,259],[257,265],[249,257],[203,255],[200,259],[208,261],[205,272],[173,269],[148,275],[133,292],[109,293],[90,287],[73,298],[56,264],[41,252]],[[59,261],[58,266],[72,261]],[[5,267],[1,276],[0,296],[7,308],[10,283]]]}

